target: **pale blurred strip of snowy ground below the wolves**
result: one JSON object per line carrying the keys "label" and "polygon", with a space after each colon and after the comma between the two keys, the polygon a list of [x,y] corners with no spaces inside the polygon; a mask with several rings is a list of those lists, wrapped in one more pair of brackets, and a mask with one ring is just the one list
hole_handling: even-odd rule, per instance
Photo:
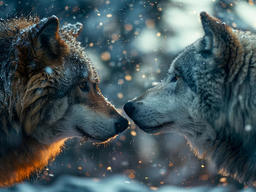
{"label": "pale blurred strip of snowy ground below the wolves", "polygon": [[[1,192],[227,192],[238,191],[233,186],[218,186],[218,187],[193,187],[181,188],[171,185],[163,185],[159,188],[149,188],[136,180],[124,178],[122,175],[115,175],[108,179],[99,180],[84,179],[74,176],[62,176],[51,185],[31,185],[20,184],[12,189],[0,189]],[[256,192],[255,188],[247,188],[239,190],[239,192]]]}

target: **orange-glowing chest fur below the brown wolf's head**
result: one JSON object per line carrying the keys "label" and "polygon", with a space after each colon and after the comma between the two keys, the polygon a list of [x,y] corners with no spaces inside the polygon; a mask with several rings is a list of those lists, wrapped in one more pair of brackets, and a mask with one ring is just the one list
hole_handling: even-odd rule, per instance
{"label": "orange-glowing chest fur below the brown wolf's head", "polygon": [[[43,145],[35,139],[29,139],[29,150],[19,148],[11,151],[6,157],[0,158],[0,187],[10,186],[13,183],[22,182],[28,179],[31,173],[41,171],[47,166],[49,159],[54,161],[54,157],[61,152],[65,140]],[[9,174],[4,174],[8,172]]]}

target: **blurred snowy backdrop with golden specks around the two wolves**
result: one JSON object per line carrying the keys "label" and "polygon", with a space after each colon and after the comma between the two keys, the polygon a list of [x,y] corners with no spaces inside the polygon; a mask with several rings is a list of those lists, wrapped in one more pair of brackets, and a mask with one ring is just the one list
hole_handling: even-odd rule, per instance
{"label": "blurred snowy backdrop with golden specks around the two wolves", "polygon": [[[78,41],[101,76],[101,92],[124,116],[124,104],[157,85],[175,55],[202,37],[201,11],[234,29],[256,30],[255,0],[0,0],[2,18],[56,15],[61,25],[81,22]],[[216,174],[180,135],[148,135],[132,121],[105,146],[79,143],[80,139],[67,141],[66,149],[43,172],[9,190],[50,191],[63,185],[59,191],[71,191],[70,184],[78,191],[83,181],[87,182],[82,191],[97,191],[95,186],[103,191],[110,185],[120,192],[166,186],[174,191],[255,190]]]}

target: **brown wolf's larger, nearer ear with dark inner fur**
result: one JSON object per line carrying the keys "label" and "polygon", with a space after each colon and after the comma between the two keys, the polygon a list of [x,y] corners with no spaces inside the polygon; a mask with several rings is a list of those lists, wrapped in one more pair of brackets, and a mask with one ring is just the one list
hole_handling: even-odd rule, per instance
{"label": "brown wolf's larger, nearer ear with dark inner fur", "polygon": [[59,22],[56,16],[51,16],[41,20],[37,26],[36,42],[34,42],[36,57],[42,53],[56,58],[60,54],[61,41],[59,40]]}

